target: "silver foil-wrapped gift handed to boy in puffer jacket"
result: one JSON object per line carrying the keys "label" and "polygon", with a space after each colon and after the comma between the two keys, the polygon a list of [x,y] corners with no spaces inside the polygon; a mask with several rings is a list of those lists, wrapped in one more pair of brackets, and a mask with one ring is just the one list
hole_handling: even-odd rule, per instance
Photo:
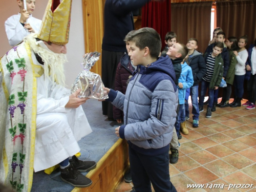
{"label": "silver foil-wrapped gift handed to boy in puffer jacket", "polygon": [[76,77],[71,87],[71,94],[81,89],[78,98],[108,99],[108,94],[103,90],[104,84],[101,77],[91,72],[95,62],[99,60],[100,53],[91,52],[83,56],[83,71]]}

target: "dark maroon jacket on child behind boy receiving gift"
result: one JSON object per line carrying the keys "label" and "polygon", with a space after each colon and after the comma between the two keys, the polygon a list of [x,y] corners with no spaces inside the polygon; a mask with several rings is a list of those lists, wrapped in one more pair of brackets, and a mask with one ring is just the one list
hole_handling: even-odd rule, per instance
{"label": "dark maroon jacket on child behind boy receiving gift", "polygon": [[[116,80],[115,80],[115,90],[120,91],[121,93],[125,94],[127,88],[127,80],[129,76],[132,75],[134,72],[134,68],[131,64],[131,59],[129,55],[124,54],[120,62],[118,63],[116,69]],[[123,112],[122,110],[113,106],[113,117],[114,119],[122,119]]]}

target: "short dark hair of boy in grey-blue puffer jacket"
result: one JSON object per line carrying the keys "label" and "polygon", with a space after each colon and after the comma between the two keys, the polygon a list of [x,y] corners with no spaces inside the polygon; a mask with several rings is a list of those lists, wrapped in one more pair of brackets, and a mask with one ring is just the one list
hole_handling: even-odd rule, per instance
{"label": "short dark hair of boy in grey-blue puffer jacket", "polygon": [[158,58],[161,51],[162,42],[160,35],[155,29],[145,27],[134,30],[129,32],[125,39],[126,41],[134,42],[136,47],[138,47],[140,50],[148,47],[148,49],[150,49],[151,57]]}

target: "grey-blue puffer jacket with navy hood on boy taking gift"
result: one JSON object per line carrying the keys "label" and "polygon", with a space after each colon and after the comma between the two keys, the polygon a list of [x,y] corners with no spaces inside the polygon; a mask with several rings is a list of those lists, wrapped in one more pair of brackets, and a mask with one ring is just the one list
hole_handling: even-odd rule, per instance
{"label": "grey-blue puffer jacket with navy hood on boy taking gift", "polygon": [[144,155],[159,155],[172,140],[178,89],[175,71],[168,57],[159,57],[150,65],[138,66],[125,95],[111,90],[109,101],[124,112],[120,138]]}

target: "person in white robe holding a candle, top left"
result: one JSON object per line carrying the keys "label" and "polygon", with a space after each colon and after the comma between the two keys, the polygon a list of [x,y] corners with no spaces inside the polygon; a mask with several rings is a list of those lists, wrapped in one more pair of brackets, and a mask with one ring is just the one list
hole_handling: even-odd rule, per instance
{"label": "person in white robe holding a candle, top left", "polygon": [[27,10],[24,9],[23,0],[17,0],[20,12],[12,15],[5,22],[5,31],[10,46],[15,46],[23,41],[30,33],[37,33],[42,21],[32,16],[35,10],[35,0],[27,0]]}

